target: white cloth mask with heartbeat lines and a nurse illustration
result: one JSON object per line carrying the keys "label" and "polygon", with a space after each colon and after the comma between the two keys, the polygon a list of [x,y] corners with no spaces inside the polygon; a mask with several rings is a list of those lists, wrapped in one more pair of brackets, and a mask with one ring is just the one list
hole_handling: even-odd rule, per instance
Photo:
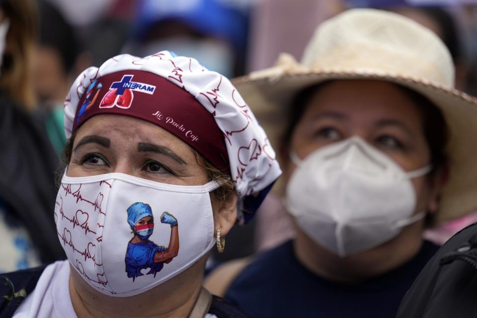
{"label": "white cloth mask with heartbeat lines and a nurse illustration", "polygon": [[212,248],[209,192],[219,186],[164,184],[123,173],[65,174],[55,207],[58,236],[90,286],[116,297],[141,294]]}

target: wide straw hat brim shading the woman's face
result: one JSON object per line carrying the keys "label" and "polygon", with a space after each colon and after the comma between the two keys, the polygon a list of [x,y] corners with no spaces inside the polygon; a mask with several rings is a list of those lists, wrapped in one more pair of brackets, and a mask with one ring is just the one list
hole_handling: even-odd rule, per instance
{"label": "wide straw hat brim shading the woman's face", "polygon": [[477,211],[477,98],[432,82],[372,71],[299,71],[277,77],[241,77],[233,82],[266,131],[272,147],[279,149],[290,99],[303,88],[339,79],[393,82],[422,94],[439,107],[449,130],[445,150],[450,175],[435,221],[441,223]]}

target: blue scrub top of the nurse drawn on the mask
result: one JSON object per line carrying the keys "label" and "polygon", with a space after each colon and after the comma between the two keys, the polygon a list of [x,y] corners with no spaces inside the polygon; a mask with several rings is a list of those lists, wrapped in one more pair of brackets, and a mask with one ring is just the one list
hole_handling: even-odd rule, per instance
{"label": "blue scrub top of the nurse drawn on the mask", "polygon": [[135,279],[138,276],[142,276],[141,269],[150,268],[151,270],[147,274],[154,274],[159,272],[164,266],[163,262],[155,262],[154,255],[156,252],[162,252],[167,250],[164,246],[159,246],[149,239],[146,243],[128,243],[128,249],[126,250],[126,272],[128,277]]}

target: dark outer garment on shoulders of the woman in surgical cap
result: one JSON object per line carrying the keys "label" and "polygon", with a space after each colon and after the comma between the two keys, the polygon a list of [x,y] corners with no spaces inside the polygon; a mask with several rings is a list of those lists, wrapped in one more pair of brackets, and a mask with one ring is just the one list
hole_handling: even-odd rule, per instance
{"label": "dark outer garment on shoulders of the woman in surgical cap", "polygon": [[[35,289],[46,266],[0,275],[0,317],[12,317],[25,298]],[[209,314],[217,318],[249,318],[228,301],[213,296]]]}

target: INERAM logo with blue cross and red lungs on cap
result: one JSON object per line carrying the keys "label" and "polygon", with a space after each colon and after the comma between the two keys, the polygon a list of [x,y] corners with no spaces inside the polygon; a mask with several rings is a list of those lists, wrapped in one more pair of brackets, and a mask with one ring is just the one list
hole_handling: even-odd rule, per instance
{"label": "INERAM logo with blue cross and red lungs on cap", "polygon": [[153,94],[156,86],[137,81],[132,81],[134,75],[124,75],[120,81],[114,81],[109,87],[109,91],[104,95],[99,103],[99,108],[129,108],[133,103],[135,91]]}

